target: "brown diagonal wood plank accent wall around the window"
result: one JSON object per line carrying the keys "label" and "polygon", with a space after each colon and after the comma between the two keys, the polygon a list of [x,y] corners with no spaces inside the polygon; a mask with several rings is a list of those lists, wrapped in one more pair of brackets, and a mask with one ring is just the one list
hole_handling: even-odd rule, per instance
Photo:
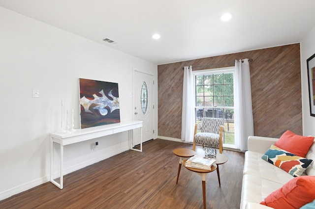
{"label": "brown diagonal wood plank accent wall around the window", "polygon": [[[302,134],[300,44],[158,65],[158,135],[181,138],[184,66],[192,70],[234,66],[251,58],[254,135]],[[233,63],[233,64],[220,64]],[[211,67],[194,68],[220,64]]]}

